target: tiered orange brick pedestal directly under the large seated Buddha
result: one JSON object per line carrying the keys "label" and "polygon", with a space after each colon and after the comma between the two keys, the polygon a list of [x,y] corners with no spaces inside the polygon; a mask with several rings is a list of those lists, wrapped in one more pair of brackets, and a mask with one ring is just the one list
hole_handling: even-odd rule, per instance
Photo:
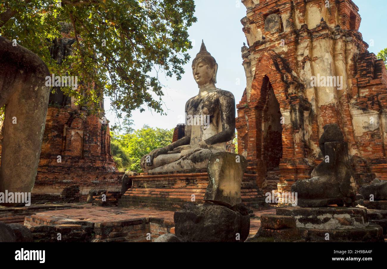
{"label": "tiered orange brick pedestal directly under the large seated Buddha", "polygon": [[[256,185],[256,174],[245,173],[241,186],[242,203],[265,208],[264,193]],[[204,170],[190,172],[141,173],[130,176],[132,188],[118,202],[119,207],[176,210],[186,202],[202,203],[208,185]]]}

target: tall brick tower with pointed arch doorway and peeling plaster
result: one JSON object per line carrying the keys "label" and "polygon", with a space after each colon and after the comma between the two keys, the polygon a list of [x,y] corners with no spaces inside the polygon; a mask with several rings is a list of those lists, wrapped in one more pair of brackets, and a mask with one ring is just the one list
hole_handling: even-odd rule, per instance
{"label": "tall brick tower with pointed arch doorway and peeling plaster", "polygon": [[[387,179],[387,72],[358,31],[358,7],[351,0],[242,2],[247,88],[237,105],[238,152],[258,185],[278,178],[278,191],[290,191],[310,178],[329,123],[348,141],[358,183]],[[311,86],[313,76],[338,76],[342,85]]]}

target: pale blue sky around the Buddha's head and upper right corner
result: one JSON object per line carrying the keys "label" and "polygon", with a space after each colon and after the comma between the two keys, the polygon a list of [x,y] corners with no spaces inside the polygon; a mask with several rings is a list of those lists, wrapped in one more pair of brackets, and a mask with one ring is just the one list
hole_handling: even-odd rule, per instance
{"label": "pale blue sky around the Buddha's head and upper right corner", "polygon": [[[370,44],[374,41],[374,46],[368,50],[377,54],[387,47],[387,34],[385,27],[385,16],[387,11],[387,0],[353,0],[359,7],[361,16],[360,32],[363,39]],[[190,40],[194,47],[189,50],[191,61],[199,52],[201,40],[208,52],[215,57],[219,64],[217,72],[217,88],[231,91],[235,95],[238,103],[246,87],[245,72],[242,66],[241,47],[246,42],[242,32],[240,19],[246,16],[246,8],[238,0],[195,0],[195,16],[197,22],[188,29]],[[184,116],[185,102],[197,95],[198,88],[192,77],[191,62],[184,66],[186,73],[182,79],[162,78],[161,82],[166,86],[164,90],[164,110],[166,116],[161,116],[156,112],[149,111],[146,106],[145,112],[139,110],[132,112],[134,129],[141,128],[144,124],[151,127],[174,128],[181,122]],[[239,82],[239,83],[238,83]],[[105,108],[110,107],[109,100],[105,98]],[[106,117],[110,120],[110,126],[116,121],[115,115],[111,111],[106,111]]]}

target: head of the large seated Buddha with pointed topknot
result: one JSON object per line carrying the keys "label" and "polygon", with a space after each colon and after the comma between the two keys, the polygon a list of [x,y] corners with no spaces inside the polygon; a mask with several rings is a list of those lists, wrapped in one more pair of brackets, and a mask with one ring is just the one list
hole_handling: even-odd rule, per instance
{"label": "head of the large seated Buddha with pointed topknot", "polygon": [[207,52],[202,40],[200,51],[192,61],[192,74],[194,75],[198,87],[205,84],[216,83],[217,67],[218,65],[215,58]]}

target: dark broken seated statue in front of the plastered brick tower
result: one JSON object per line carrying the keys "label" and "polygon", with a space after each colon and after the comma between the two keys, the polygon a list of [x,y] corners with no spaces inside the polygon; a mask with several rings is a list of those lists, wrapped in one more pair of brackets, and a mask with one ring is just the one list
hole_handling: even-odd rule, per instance
{"label": "dark broken seated statue in front of the plastered brick tower", "polygon": [[291,191],[298,195],[300,207],[331,204],[351,206],[356,183],[348,157],[348,143],[337,124],[324,126],[319,140],[323,161],[312,171],[311,179],[298,180]]}

